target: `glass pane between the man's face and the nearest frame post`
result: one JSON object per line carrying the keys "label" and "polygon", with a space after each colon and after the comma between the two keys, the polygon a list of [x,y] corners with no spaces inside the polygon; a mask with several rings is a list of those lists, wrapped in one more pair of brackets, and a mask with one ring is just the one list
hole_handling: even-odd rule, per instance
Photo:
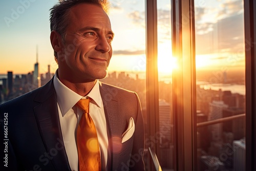
{"label": "glass pane between the man's face and the nearest frame post", "polygon": [[[110,3],[109,17],[115,33],[112,42],[113,56],[108,77],[101,81],[135,91],[140,98],[144,125],[146,125],[145,1],[110,0]],[[145,137],[148,137],[146,129]],[[144,153],[146,169],[148,160],[150,158],[146,148]]]}

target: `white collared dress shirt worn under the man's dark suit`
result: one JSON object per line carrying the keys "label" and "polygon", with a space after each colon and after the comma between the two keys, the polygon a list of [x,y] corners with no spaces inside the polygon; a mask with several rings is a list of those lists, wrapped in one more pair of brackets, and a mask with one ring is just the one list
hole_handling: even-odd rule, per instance
{"label": "white collared dress shirt worn under the man's dark suit", "polygon": [[53,85],[57,95],[57,105],[59,121],[66,153],[71,170],[78,170],[78,154],[76,147],[76,129],[82,115],[82,111],[76,107],[80,99],[90,97],[90,116],[93,119],[97,130],[100,145],[102,170],[105,170],[108,159],[108,134],[106,132],[106,119],[104,115],[103,103],[99,91],[99,81],[87,95],[80,96],[66,87],[57,76],[57,71],[53,78]]}

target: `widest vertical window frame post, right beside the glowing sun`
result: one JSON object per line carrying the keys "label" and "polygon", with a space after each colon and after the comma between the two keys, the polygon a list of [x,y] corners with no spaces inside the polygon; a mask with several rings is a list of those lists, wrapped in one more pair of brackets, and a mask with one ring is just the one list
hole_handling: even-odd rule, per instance
{"label": "widest vertical window frame post, right beside the glowing sun", "polygon": [[173,56],[179,66],[173,71],[176,170],[197,170],[194,1],[173,0],[171,6]]}

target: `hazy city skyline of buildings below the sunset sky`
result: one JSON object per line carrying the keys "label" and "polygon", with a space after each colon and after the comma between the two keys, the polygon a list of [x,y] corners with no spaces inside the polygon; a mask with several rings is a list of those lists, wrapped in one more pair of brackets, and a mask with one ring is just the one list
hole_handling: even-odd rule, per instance
{"label": "hazy city skyline of buildings below the sunset sky", "polygon": [[[35,63],[37,64],[37,63]],[[35,66],[36,70],[36,66]],[[50,72],[50,67],[48,70],[48,73],[44,76],[44,79],[41,81],[41,86],[43,86],[48,80],[51,79],[53,75]],[[3,84],[0,84],[0,103],[1,100],[10,100],[12,98],[15,98],[16,96],[20,96],[26,92],[29,92],[35,88],[38,87],[38,83],[34,82],[34,76],[33,74],[27,74],[22,75],[22,77],[14,75],[12,72],[8,72],[8,78],[3,79]],[[1,80],[1,79],[0,79]],[[138,96],[141,100],[141,106],[143,109],[143,116],[145,119],[145,126],[147,125],[146,121],[146,95],[145,95],[145,79],[139,79],[138,77],[136,79],[131,78],[128,74],[121,72],[116,73],[113,72],[109,74],[108,77],[106,77],[104,80],[101,80],[103,82],[113,84],[115,86],[132,90],[138,93]],[[234,82],[235,83],[235,82]],[[214,90],[214,89],[204,89],[200,88],[200,86],[197,87],[197,112],[200,111],[200,113],[197,113],[197,119],[198,123],[200,122],[207,122],[210,120],[215,119],[221,119],[224,117],[229,116],[235,116],[239,114],[245,113],[244,110],[244,95],[240,95],[238,93],[231,93],[231,91],[222,91],[222,90]],[[216,101],[217,100],[217,101]],[[2,101],[2,102],[4,102]],[[218,105],[216,109],[211,110],[211,105],[217,103]],[[225,105],[226,111],[224,109],[219,108],[219,106]],[[215,106],[215,107],[216,107]],[[161,166],[163,168],[172,168],[173,167],[173,114],[171,111],[172,108],[172,90],[170,89],[170,83],[164,83],[159,82],[159,124],[160,127],[160,139],[159,139],[159,145],[160,145],[160,155],[159,160],[161,162]],[[214,112],[211,112],[214,111]],[[222,112],[223,111],[223,112]],[[224,112],[226,113],[224,116]],[[222,114],[223,113],[223,114]],[[214,115],[213,115],[214,114]],[[217,117],[216,117],[217,116]],[[201,118],[201,119],[200,119]],[[208,119],[207,119],[208,118]],[[215,126],[215,125],[212,125]],[[221,164],[221,167],[225,168],[231,168],[232,163],[230,165],[229,160],[226,158],[222,158],[223,151],[225,149],[232,150],[232,142],[233,140],[240,140],[244,137],[244,123],[243,120],[234,120],[229,121],[225,123],[225,127],[222,126],[222,124],[216,125],[215,129],[212,130],[212,132],[207,131],[205,127],[202,127],[202,129],[198,128],[198,152],[200,156],[200,166],[201,168],[204,167],[212,167],[212,165],[207,164],[207,161],[211,161],[214,159],[214,166],[218,166]],[[239,128],[239,129],[238,129]],[[200,134],[202,136],[200,136]],[[214,138],[214,135],[218,135],[216,138]],[[209,138],[209,139],[207,139]],[[209,143],[209,140],[211,140],[211,143]],[[223,140],[220,141],[220,140]],[[230,143],[231,142],[231,143]],[[201,145],[200,145],[201,144]],[[218,148],[219,146],[223,146],[222,148]],[[234,150],[235,152],[236,150]],[[228,153],[229,154],[229,153]],[[232,156],[228,156],[229,158]],[[244,155],[237,155],[237,158],[244,158]],[[205,161],[205,159],[207,159]],[[236,164],[238,161],[233,160],[233,164]],[[241,162],[239,162],[241,163]],[[206,168],[205,168],[206,169]],[[204,170],[204,169],[201,169]],[[230,170],[230,169],[228,169]]]}

